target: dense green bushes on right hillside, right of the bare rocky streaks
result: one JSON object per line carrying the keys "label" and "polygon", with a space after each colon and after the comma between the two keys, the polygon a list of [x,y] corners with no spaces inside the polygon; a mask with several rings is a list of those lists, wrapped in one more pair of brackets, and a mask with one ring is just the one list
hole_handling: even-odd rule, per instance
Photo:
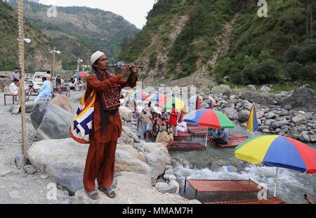
{"label": "dense green bushes on right hillside, right of the bare rocky streaks", "polygon": [[[244,8],[235,23],[231,49],[215,69],[216,81],[264,84],[289,77],[293,81],[307,75],[316,78],[315,42],[303,44],[309,36],[304,2],[269,1],[268,18],[259,18],[256,8]],[[303,46],[291,46],[297,44]]]}

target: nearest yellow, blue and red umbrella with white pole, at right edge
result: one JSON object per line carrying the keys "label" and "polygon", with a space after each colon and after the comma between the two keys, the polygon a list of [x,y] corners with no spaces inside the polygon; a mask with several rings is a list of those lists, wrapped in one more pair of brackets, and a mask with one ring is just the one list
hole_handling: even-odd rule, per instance
{"label": "nearest yellow, blue and red umbrella with white pole, at right edge", "polygon": [[316,173],[316,151],[287,136],[257,136],[249,139],[235,148],[235,157],[253,164],[263,163],[268,167],[277,167],[277,172],[278,167],[282,167],[307,174]]}

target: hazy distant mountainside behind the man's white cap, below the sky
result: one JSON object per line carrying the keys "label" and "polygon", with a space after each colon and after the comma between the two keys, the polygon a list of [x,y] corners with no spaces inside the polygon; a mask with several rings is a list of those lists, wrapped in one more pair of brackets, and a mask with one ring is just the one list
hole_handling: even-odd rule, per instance
{"label": "hazy distant mountainside behind the man's white cap, below the sky", "polygon": [[[16,1],[9,2],[16,7]],[[121,52],[121,41],[131,38],[139,30],[123,17],[110,11],[87,7],[58,7],[57,17],[48,18],[50,6],[24,1],[25,17],[37,30],[52,39],[62,51],[62,68],[77,69],[77,60],[90,63],[91,53],[104,51],[111,63],[116,63]]]}

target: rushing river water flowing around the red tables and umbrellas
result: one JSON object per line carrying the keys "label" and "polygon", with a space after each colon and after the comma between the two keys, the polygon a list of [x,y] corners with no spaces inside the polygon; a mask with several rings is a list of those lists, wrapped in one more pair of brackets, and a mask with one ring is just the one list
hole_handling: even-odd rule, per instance
{"label": "rushing river water flowing around the red tables and umbrellas", "polygon": [[[244,127],[237,127],[230,132],[252,137]],[[205,143],[202,138],[192,141]],[[316,143],[308,143],[308,146],[316,150]],[[183,193],[185,177],[188,179],[251,179],[267,187],[269,197],[273,196],[276,167],[251,165],[237,160],[234,156],[234,148],[208,146],[205,151],[170,151],[169,153],[180,184],[180,195],[185,198],[194,198],[192,191],[190,193],[190,188],[189,191]],[[277,198],[286,203],[307,203],[303,197],[304,193],[308,193],[316,201],[316,174],[303,174],[291,169],[279,168]]]}

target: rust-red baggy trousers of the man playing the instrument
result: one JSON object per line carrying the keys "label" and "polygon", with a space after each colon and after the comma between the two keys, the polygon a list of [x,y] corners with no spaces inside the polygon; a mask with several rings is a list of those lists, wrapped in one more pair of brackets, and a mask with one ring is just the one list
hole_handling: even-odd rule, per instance
{"label": "rust-red baggy trousers of the man playing the instrument", "polygon": [[116,149],[117,141],[99,143],[94,137],[91,137],[86,167],[84,167],[84,189],[86,191],[96,190],[96,179],[99,187],[112,186]]}

